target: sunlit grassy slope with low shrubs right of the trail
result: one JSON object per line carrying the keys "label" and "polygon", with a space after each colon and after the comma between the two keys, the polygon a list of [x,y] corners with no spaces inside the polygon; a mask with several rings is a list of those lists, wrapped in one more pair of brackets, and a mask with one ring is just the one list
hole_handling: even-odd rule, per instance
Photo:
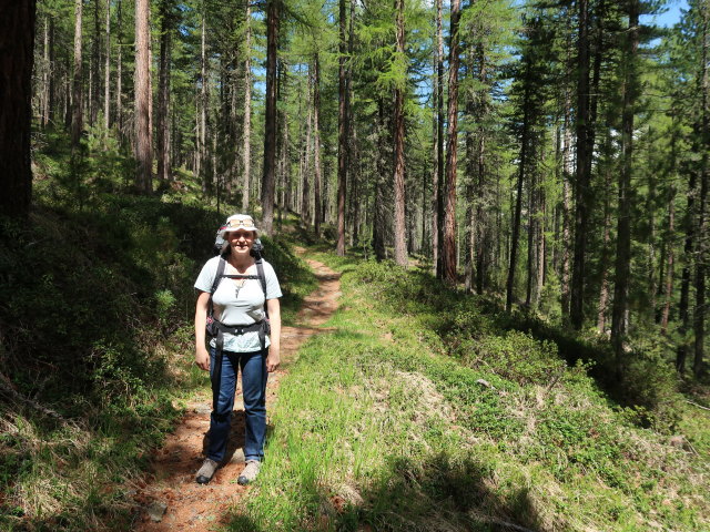
{"label": "sunlit grassy slope with low shrubs right of the trail", "polygon": [[343,272],[335,329],[282,381],[230,530],[710,530],[707,412],[682,415],[699,454],[671,447],[485,301],[322,259]]}

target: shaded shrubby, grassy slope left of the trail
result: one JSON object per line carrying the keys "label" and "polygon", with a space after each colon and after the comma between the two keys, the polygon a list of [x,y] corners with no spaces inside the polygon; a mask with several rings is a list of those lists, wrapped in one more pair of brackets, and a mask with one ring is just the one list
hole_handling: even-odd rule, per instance
{"label": "shaded shrubby, grassy slope left of the trail", "polygon": [[[224,215],[187,174],[131,195],[115,149],[72,166],[63,135],[41,139],[29,223],[0,219],[0,530],[126,530],[175,399],[206,386],[192,285]],[[314,277],[265,245],[293,320]]]}

